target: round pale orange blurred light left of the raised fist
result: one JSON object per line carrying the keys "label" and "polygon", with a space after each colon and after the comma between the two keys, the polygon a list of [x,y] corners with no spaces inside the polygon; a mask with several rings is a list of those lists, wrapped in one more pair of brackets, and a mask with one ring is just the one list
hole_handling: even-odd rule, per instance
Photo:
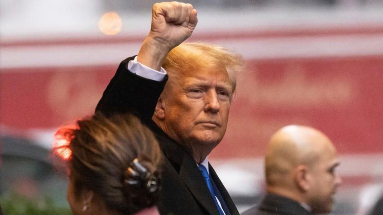
{"label": "round pale orange blurred light left of the raised fist", "polygon": [[107,12],[98,21],[98,28],[106,35],[116,35],[122,28],[121,17],[116,12]]}

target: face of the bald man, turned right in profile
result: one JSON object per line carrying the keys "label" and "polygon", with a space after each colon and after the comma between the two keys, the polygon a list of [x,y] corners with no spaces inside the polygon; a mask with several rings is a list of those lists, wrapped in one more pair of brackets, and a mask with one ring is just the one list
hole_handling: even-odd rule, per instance
{"label": "face of the bald man, turned right in profile", "polygon": [[334,147],[326,149],[321,158],[309,170],[310,190],[307,204],[314,214],[330,213],[334,205],[334,195],[342,180],[335,173],[339,165]]}

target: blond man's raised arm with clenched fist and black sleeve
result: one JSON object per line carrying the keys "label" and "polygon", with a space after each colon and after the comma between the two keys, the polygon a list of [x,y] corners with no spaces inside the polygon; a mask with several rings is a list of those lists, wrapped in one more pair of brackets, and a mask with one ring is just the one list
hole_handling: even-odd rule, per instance
{"label": "blond man's raised arm with clenched fist and black sleeve", "polygon": [[[189,38],[196,24],[197,11],[191,4],[176,1],[154,4],[151,29],[141,45],[137,62],[160,71],[169,51]],[[130,112],[147,122],[154,113],[167,76],[162,81],[155,81],[136,75],[136,71],[129,71],[127,67],[133,59],[128,58],[120,64],[96,111],[105,115]]]}

